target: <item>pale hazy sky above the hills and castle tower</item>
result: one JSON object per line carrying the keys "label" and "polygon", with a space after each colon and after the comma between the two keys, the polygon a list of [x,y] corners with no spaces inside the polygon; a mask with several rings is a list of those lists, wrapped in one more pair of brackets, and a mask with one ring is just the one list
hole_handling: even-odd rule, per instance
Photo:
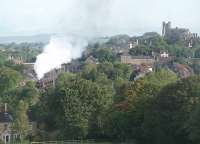
{"label": "pale hazy sky above the hills and castle tower", "polygon": [[200,0],[0,0],[0,36],[138,35],[164,20],[200,33]]}

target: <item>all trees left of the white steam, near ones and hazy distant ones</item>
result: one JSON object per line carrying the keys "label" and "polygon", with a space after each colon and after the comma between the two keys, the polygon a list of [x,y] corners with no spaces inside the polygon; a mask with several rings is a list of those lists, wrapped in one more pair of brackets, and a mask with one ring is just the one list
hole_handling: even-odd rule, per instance
{"label": "all trees left of the white steam, near ones and hazy distant ones", "polygon": [[42,43],[0,44],[0,104],[7,103],[13,118],[11,130],[20,134],[20,141],[27,139],[31,132],[30,108],[38,102],[40,92],[36,83],[27,79],[26,67],[14,60],[35,62],[42,47]]}

